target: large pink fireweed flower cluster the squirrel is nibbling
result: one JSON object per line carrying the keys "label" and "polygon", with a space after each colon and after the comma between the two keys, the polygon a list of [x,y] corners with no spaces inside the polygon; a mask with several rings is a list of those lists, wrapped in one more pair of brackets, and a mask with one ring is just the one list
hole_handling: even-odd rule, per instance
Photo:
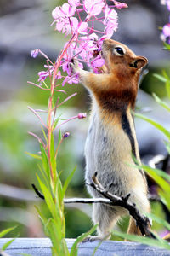
{"label": "large pink fireweed flower cluster the squirrel is nibbling", "polygon": [[[65,54],[60,61],[62,71],[66,76],[59,73],[58,79],[64,79],[62,84],[77,84],[77,74],[72,75],[70,62],[77,57],[82,67],[82,62],[99,73],[99,67],[105,64],[99,55],[102,42],[105,38],[111,38],[117,29],[116,9],[127,8],[126,3],[116,0],[68,0],[62,6],[56,7],[52,16],[54,18],[55,30],[62,32],[65,36],[71,35],[71,39],[64,46]],[[69,46],[68,46],[69,44]],[[32,51],[31,55],[36,57],[39,50]],[[54,67],[48,67],[47,71],[39,74],[42,82],[48,75],[53,73]]]}

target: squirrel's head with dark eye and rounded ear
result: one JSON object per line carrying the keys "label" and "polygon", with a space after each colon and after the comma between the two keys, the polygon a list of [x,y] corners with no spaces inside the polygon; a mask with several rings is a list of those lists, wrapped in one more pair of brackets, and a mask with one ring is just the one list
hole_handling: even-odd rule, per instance
{"label": "squirrel's head with dark eye and rounded ear", "polygon": [[111,39],[104,40],[101,54],[105,59],[108,73],[135,75],[140,73],[148,62],[145,57],[135,55],[125,44]]}

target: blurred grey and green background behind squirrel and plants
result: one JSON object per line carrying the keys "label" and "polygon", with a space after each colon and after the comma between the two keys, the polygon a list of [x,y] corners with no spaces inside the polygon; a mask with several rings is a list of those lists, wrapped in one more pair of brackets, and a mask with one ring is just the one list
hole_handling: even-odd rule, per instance
{"label": "blurred grey and green background behind squirrel and plants", "polygon": [[[45,64],[41,56],[31,59],[31,49],[42,49],[54,61],[65,44],[64,36],[50,26],[52,10],[62,3],[64,1],[0,1],[0,230],[18,226],[9,236],[44,236],[34,207],[42,202],[31,189],[31,183],[37,184],[38,160],[26,154],[39,151],[37,140],[27,132],[33,131],[41,137],[42,133],[38,119],[27,106],[46,109],[48,94],[27,84],[27,81],[37,83],[37,72],[43,70]],[[162,69],[169,73],[169,52],[163,50],[159,30],[168,22],[168,12],[156,0],[127,0],[127,4],[128,9],[118,11],[119,28],[113,38],[127,44],[137,55],[149,59],[149,73],[140,85],[137,108],[168,129],[169,116],[151,96],[156,92],[166,100],[165,85],[153,74],[161,73]],[[82,85],[65,84],[65,90],[68,95],[77,92],[77,96],[59,109],[63,117],[77,113],[88,113],[89,117],[90,99]],[[45,116],[43,118],[46,119]],[[156,154],[166,155],[161,133],[140,119],[135,122],[142,160],[148,163]],[[58,166],[62,179],[77,166],[67,196],[88,196],[84,185],[83,158],[88,118],[71,121],[62,127],[62,131],[71,132],[59,151]],[[155,191],[153,183],[150,183],[150,190]],[[156,202],[153,203],[153,211],[161,217],[164,215]],[[88,230],[92,225],[90,216],[91,206],[65,207],[66,236],[76,237]],[[126,226],[125,218],[118,228],[125,229]],[[160,225],[154,224],[154,228],[160,233],[163,231]]]}

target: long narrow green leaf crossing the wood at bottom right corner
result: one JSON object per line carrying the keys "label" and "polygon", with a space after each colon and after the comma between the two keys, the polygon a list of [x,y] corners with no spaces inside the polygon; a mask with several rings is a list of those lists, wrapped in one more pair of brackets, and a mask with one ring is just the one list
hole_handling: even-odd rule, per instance
{"label": "long narrow green leaf crossing the wood at bottom right corner", "polygon": [[114,230],[114,235],[120,236],[129,241],[138,241],[140,243],[149,245],[151,247],[161,247],[161,248],[170,250],[170,245],[165,240],[161,240],[161,239],[156,240],[156,239],[152,239],[152,238],[144,237],[144,236],[135,236],[135,235],[125,234],[118,230]]}

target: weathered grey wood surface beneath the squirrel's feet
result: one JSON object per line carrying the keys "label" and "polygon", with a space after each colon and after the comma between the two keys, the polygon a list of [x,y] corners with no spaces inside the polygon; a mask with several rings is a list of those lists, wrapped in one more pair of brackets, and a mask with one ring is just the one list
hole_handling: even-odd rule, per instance
{"label": "weathered grey wood surface beneath the squirrel's feet", "polygon": [[[8,241],[0,239],[0,248]],[[75,240],[67,239],[69,249]],[[78,256],[92,256],[99,241],[85,242],[79,245]],[[48,238],[17,238],[5,251],[9,255],[28,253],[32,256],[51,256],[51,242]],[[167,256],[170,252],[161,248],[149,247],[137,242],[103,241],[95,256]]]}

